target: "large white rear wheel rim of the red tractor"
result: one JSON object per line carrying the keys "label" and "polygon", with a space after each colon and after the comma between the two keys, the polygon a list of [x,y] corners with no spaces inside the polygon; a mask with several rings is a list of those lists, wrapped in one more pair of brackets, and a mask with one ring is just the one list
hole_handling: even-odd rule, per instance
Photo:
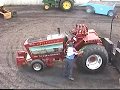
{"label": "large white rear wheel rim of the red tractor", "polygon": [[87,58],[86,66],[91,70],[96,70],[102,65],[102,58],[99,55],[91,55]]}

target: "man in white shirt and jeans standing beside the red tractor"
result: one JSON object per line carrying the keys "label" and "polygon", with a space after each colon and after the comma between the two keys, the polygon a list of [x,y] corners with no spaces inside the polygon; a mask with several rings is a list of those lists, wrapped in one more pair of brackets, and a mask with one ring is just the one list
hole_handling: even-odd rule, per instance
{"label": "man in white shirt and jeans standing beside the red tractor", "polygon": [[81,55],[83,52],[78,52],[73,47],[73,43],[70,42],[67,48],[67,55],[65,59],[65,77],[68,77],[70,80],[74,80],[73,78],[73,67],[75,62],[75,55]]}

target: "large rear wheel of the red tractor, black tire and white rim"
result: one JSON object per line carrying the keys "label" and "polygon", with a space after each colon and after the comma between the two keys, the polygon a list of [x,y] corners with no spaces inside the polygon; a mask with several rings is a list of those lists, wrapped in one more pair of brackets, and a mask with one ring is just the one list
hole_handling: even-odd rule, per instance
{"label": "large rear wheel of the red tractor, black tire and white rim", "polygon": [[76,62],[78,69],[89,73],[102,71],[108,62],[108,53],[103,46],[86,45],[82,48],[84,51],[81,57],[78,57]]}

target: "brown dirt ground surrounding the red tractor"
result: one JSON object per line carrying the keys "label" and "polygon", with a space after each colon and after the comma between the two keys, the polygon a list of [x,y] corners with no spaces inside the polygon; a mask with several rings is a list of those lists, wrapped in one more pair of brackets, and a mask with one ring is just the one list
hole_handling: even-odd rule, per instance
{"label": "brown dirt ground surrounding the red tractor", "polygon": [[[44,37],[47,34],[72,30],[75,24],[85,23],[100,36],[109,37],[111,18],[102,15],[87,14],[76,8],[71,12],[54,9],[42,10],[39,6],[9,6],[16,10],[18,17],[11,20],[0,18],[0,88],[7,89],[43,89],[43,88],[119,88],[119,74],[110,65],[99,74],[85,74],[75,70],[75,81],[62,76],[62,62],[56,62],[53,68],[43,72],[33,72],[29,68],[19,70],[16,66],[16,51],[22,50],[27,38]],[[120,14],[120,8],[118,8]],[[120,39],[120,19],[114,21],[112,41]]]}

